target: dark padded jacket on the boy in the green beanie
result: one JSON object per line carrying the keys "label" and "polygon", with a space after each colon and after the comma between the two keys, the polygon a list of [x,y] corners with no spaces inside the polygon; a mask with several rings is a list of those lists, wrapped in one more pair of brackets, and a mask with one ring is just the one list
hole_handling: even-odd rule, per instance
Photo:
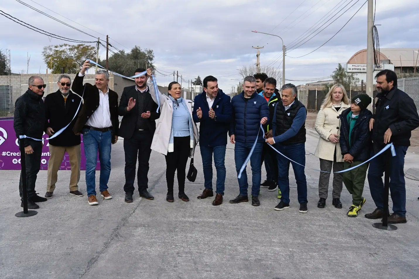
{"label": "dark padded jacket on the boy in the green beanie", "polygon": [[351,143],[349,146],[349,123],[347,116],[351,108],[342,111],[339,118],[341,119],[341,134],[339,137],[339,144],[342,155],[350,154],[354,156],[354,161],[366,161],[370,159],[370,152],[372,147],[371,133],[370,133],[370,119],[372,112],[364,109],[360,112],[354,129],[352,130]]}

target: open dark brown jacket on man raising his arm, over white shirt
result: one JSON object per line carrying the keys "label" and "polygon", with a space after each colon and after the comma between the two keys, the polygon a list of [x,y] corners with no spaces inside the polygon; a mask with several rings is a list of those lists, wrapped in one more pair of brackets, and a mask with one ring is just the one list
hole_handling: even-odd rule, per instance
{"label": "open dark brown jacket on man raising his arm, over white shirt", "polygon": [[[83,107],[80,110],[76,123],[74,124],[73,132],[75,134],[81,133],[83,126],[86,124],[89,117],[99,107],[99,89],[96,85],[85,83],[83,85],[83,77],[77,74],[74,78],[71,89],[73,92],[82,96],[84,99]],[[109,111],[111,113],[112,121],[112,143],[115,142],[115,137],[118,135],[119,120],[118,120],[118,94],[109,89]]]}

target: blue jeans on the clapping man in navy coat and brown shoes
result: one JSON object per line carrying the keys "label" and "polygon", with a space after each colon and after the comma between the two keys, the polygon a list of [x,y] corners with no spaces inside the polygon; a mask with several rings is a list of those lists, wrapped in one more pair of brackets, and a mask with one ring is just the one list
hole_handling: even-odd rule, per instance
{"label": "blue jeans on the clapping man in navy coat and brown shoes", "polygon": [[204,186],[206,189],[212,190],[212,154],[214,154],[214,165],[217,170],[217,194],[224,195],[225,182],[225,145],[206,147],[200,145],[202,156],[202,169],[204,171]]}

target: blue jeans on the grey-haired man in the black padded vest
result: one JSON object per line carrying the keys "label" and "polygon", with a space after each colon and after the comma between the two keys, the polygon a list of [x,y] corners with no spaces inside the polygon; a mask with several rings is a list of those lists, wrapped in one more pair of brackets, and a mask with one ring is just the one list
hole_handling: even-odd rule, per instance
{"label": "blue jeans on the grey-haired man in the black padded vest", "polygon": [[307,203],[307,181],[305,180],[304,167],[305,165],[305,144],[296,143],[292,145],[281,145],[279,143],[274,146],[279,152],[288,158],[300,163],[298,165],[291,162],[284,156],[277,153],[278,161],[278,186],[282,193],[281,200],[286,204],[290,203],[290,179],[288,173],[290,171],[290,163],[294,170],[295,180],[297,182],[298,202]]}

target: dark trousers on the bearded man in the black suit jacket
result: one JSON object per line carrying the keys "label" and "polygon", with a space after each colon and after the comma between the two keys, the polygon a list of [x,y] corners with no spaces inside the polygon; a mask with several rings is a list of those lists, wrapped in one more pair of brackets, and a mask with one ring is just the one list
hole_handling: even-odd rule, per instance
{"label": "dark trousers on the bearded man in the black suit jacket", "polygon": [[151,142],[153,134],[150,131],[135,131],[131,138],[124,139],[125,152],[125,185],[126,193],[134,193],[135,168],[138,171],[137,184],[138,191],[144,191],[148,188],[148,170],[150,168],[148,161],[151,154]]}

